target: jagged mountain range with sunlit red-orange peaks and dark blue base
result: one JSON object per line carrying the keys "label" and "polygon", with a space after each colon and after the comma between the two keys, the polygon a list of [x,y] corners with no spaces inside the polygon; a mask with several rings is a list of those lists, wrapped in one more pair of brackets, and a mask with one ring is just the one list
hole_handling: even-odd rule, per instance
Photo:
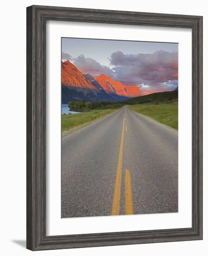
{"label": "jagged mountain range with sunlit red-orange peaks and dark blue base", "polygon": [[62,103],[69,101],[124,101],[141,96],[139,87],[114,81],[110,76],[82,74],[70,61],[61,63]]}

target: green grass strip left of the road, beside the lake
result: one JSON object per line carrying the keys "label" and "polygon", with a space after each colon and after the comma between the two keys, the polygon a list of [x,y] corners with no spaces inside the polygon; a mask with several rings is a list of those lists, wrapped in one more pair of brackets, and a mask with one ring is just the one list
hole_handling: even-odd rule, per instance
{"label": "green grass strip left of the road, beside the lake", "polygon": [[88,123],[93,120],[96,120],[97,118],[108,115],[116,110],[117,109],[115,108],[95,109],[89,112],[83,112],[79,114],[62,115],[61,116],[62,132],[70,130],[71,128],[80,126],[84,123]]}

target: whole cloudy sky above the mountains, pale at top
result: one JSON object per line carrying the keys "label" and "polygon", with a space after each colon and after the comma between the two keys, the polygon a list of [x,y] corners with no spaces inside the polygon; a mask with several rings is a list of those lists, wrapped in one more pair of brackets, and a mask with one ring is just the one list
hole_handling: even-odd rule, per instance
{"label": "whole cloudy sky above the mountains, pale at top", "polygon": [[178,44],[163,42],[62,38],[62,61],[83,74],[106,74],[143,93],[178,86]]}

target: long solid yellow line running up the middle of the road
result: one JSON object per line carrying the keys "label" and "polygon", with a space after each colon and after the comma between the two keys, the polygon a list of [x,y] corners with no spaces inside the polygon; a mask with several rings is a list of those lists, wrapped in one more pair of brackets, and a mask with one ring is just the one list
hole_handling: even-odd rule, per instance
{"label": "long solid yellow line running up the middle of the road", "polygon": [[116,173],[116,181],[115,181],[111,215],[119,215],[119,210],[120,210],[124,132],[125,132],[125,119],[123,118],[123,128],[122,128],[121,142],[120,142],[120,148],[119,148],[119,154],[118,154],[117,173]]}

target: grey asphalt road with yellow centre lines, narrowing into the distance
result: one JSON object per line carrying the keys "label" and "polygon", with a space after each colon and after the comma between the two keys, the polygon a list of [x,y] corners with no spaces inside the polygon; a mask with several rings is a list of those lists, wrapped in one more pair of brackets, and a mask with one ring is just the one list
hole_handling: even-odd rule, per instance
{"label": "grey asphalt road with yellow centre lines, narrowing into the distance", "polygon": [[62,138],[63,217],[178,211],[178,136],[126,106]]}

